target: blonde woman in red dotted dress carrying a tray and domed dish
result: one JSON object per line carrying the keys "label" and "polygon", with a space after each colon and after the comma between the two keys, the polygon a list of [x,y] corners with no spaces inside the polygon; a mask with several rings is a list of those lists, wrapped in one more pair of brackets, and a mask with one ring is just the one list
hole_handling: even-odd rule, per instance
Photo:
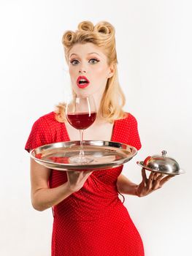
{"label": "blonde woman in red dotted dress carrying a tray and domed dish", "polygon": [[[84,139],[118,141],[139,150],[137,120],[123,111],[125,97],[118,83],[113,26],[84,21],[77,31],[66,31],[63,44],[73,94],[93,95],[99,110]],[[78,83],[82,77],[89,83]],[[79,140],[64,110],[65,104],[58,105],[55,112],[34,123],[27,151],[48,143]],[[31,159],[32,205],[38,211],[53,207],[52,255],[144,255],[142,239],[118,194],[142,197],[170,177],[150,173],[147,178],[142,169],[142,182],[134,184],[121,174],[122,169],[62,172]]]}

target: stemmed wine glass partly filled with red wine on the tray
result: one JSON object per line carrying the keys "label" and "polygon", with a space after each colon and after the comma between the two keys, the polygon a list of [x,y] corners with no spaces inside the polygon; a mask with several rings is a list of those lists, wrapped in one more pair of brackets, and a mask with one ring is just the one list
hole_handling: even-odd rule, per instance
{"label": "stemmed wine glass partly filled with red wine on the tray", "polygon": [[83,151],[84,129],[96,120],[96,104],[92,96],[74,96],[66,102],[66,119],[72,127],[80,131],[80,154],[70,157],[72,163],[85,164],[93,161],[91,157],[85,157]]}

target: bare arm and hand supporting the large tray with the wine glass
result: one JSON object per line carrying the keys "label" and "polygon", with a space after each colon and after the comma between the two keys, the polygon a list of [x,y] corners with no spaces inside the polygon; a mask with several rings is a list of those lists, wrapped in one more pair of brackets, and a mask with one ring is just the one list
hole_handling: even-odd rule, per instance
{"label": "bare arm and hand supporting the large tray with the wine glass", "polygon": [[37,211],[44,211],[61,203],[73,192],[77,192],[91,175],[91,172],[84,171],[66,172],[68,181],[59,187],[50,189],[48,187],[50,171],[50,169],[31,159],[31,203]]}

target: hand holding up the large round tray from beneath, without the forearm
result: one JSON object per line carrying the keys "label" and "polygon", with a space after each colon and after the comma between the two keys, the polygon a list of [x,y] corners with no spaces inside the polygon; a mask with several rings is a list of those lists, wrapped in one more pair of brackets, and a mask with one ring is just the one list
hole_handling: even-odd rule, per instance
{"label": "hand holding up the large round tray from beneath, without the forearm", "polygon": [[69,191],[71,192],[77,192],[80,190],[83,185],[85,184],[85,181],[88,179],[88,177],[91,175],[92,171],[88,170],[70,170],[66,171],[67,174],[67,187]]}

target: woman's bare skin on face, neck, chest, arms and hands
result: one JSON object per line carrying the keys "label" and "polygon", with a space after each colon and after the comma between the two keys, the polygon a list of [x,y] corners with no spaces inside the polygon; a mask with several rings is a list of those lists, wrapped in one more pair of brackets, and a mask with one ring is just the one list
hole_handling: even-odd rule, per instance
{"label": "woman's bare skin on face, neck, chest, arms and hands", "polygon": [[[93,95],[97,109],[101,102],[107,79],[112,77],[113,65],[107,64],[107,56],[100,48],[92,43],[84,45],[76,44],[69,52],[69,74],[72,81],[72,89],[76,94]],[[77,77],[85,75],[90,80],[90,85],[85,89],[79,89],[76,84]],[[111,140],[113,124],[102,120],[97,116],[96,121],[84,132],[85,140]],[[66,123],[66,129],[70,140],[79,140],[77,129]],[[47,208],[61,203],[66,197],[80,190],[86,180],[91,176],[91,171],[67,171],[67,182],[59,187],[50,189],[48,180],[51,170],[37,164],[31,159],[31,202],[35,209],[44,211]],[[117,180],[118,192],[125,195],[137,195],[143,197],[156,189],[161,188],[172,176],[162,176],[151,172],[147,178],[145,169],[142,169],[142,182],[134,184],[126,176],[120,174]]]}

